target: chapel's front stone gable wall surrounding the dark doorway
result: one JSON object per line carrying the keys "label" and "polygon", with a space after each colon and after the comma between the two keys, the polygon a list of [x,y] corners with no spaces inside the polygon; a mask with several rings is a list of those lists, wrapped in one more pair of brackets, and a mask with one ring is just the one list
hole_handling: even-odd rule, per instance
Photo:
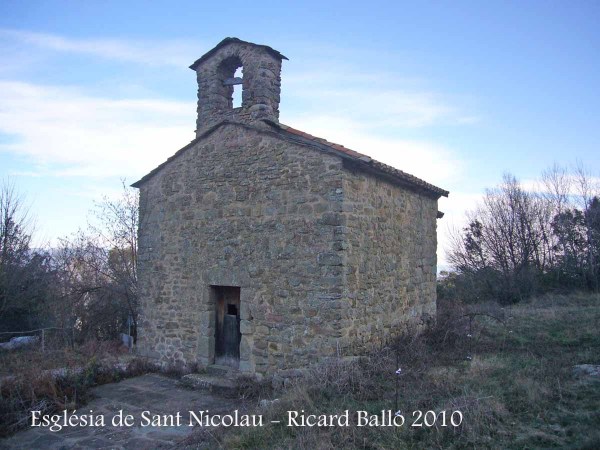
{"label": "chapel's front stone gable wall surrounding the dark doorway", "polygon": [[335,352],[341,165],[227,124],[144,182],[142,353],[211,363],[211,285],[241,287],[240,370],[270,374]]}

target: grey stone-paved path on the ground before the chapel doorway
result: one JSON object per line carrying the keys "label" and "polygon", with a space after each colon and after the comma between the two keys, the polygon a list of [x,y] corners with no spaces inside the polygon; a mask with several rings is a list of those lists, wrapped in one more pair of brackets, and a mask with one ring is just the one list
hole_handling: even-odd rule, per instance
{"label": "grey stone-paved path on the ground before the chapel doorway", "polygon": [[[104,415],[104,427],[68,427],[51,432],[48,428],[29,428],[0,440],[0,449],[154,449],[168,448],[192,431],[188,411],[209,410],[223,414],[242,409],[239,401],[217,395],[184,389],[177,380],[157,374],[105,384],[92,390],[96,399],[80,408],[78,414]],[[122,409],[135,418],[134,427],[113,427],[113,416]],[[181,411],[181,426],[141,427],[142,411],[153,414],[175,414]]]}

